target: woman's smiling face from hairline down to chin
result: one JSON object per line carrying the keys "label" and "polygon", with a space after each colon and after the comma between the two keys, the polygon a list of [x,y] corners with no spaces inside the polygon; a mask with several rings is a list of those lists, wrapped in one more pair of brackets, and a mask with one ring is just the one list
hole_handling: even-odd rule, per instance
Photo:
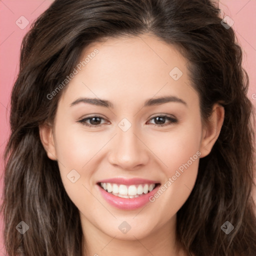
{"label": "woman's smiling face from hairline down to chin", "polygon": [[[150,35],[108,38],[87,47],[80,60],[46,150],[58,161],[83,226],[139,239],[175,223],[215,135],[202,127],[187,60]],[[116,195],[100,187],[115,178],[122,179],[103,186]]]}

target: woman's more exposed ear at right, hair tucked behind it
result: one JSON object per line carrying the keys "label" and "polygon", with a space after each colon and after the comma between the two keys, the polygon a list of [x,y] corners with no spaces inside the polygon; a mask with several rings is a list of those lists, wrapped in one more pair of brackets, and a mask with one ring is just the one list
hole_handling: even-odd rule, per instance
{"label": "woman's more exposed ear at right, hair tucked behind it", "polygon": [[202,127],[202,138],[200,144],[200,158],[208,155],[218,138],[223,121],[224,121],[224,107],[215,103],[212,107],[212,113]]}

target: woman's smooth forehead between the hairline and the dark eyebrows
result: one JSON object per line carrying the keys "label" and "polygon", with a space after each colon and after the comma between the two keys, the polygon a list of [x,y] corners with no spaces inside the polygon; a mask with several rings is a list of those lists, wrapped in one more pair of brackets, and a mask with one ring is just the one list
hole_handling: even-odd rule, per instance
{"label": "woman's smooth forehead between the hairline and the dark eyebrows", "polygon": [[69,101],[79,95],[121,98],[122,102],[163,93],[189,97],[186,63],[175,46],[149,34],[105,38],[83,49],[64,97]]}

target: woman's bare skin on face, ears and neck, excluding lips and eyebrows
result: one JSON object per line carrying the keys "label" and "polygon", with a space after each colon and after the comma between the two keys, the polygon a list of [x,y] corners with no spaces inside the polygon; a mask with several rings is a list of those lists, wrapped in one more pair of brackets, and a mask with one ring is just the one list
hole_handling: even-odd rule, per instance
{"label": "woman's bare skin on face, ears and neck, excluding lips and eyebrows", "polygon": [[[53,124],[40,126],[40,138],[49,158],[57,160],[66,192],[80,212],[87,254],[185,255],[175,245],[176,212],[188,198],[198,171],[199,157],[154,202],[136,210],[108,204],[96,185],[111,177],[141,177],[166,183],[197,151],[206,156],[216,141],[224,109],[214,104],[210,121],[202,125],[199,97],[191,87],[187,60],[153,35],[108,38],[85,48],[81,60],[95,48],[98,54],[76,74],[63,91]],[[182,71],[178,80],[169,72]],[[174,95],[186,102],[143,107],[144,101]],[[113,108],[79,103],[79,97],[112,102]],[[98,126],[78,120],[100,115]],[[176,118],[157,122],[161,114]],[[131,127],[118,123],[126,118]],[[92,119],[86,123],[93,125]],[[159,124],[169,124],[159,126]],[[154,125],[158,124],[158,126]],[[80,178],[66,177],[75,169]],[[123,234],[118,226],[131,229]]]}

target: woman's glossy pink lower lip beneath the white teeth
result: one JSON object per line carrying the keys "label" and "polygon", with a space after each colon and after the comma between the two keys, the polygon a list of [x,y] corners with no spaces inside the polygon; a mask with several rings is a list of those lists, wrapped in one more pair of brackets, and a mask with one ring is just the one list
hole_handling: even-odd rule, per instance
{"label": "woman's glossy pink lower lip beneath the white teeth", "polygon": [[149,202],[149,197],[152,196],[160,184],[157,184],[152,191],[146,194],[142,194],[138,197],[134,198],[123,198],[116,195],[113,195],[111,193],[108,193],[106,190],[104,190],[100,185],[97,185],[99,187],[99,191],[103,198],[112,206],[117,207],[119,209],[123,210],[133,210],[138,209],[142,206],[144,206],[146,203]]}

